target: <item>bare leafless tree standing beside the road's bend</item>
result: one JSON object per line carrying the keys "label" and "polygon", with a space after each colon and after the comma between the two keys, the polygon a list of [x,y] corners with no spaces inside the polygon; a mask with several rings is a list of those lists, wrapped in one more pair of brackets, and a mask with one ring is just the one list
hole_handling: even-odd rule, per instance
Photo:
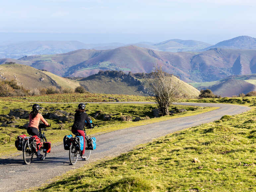
{"label": "bare leafless tree standing beside the road's bend", "polygon": [[170,76],[165,76],[162,67],[157,65],[148,80],[154,93],[154,100],[158,103],[158,107],[162,112],[162,116],[168,115],[168,107],[178,100],[179,83],[174,82]]}

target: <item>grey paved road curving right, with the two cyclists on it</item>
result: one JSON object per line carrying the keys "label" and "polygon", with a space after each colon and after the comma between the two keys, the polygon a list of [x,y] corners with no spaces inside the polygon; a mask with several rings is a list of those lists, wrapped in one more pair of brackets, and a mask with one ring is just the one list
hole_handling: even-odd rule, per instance
{"label": "grey paved road curving right, with the two cyclists on it", "polygon": [[[97,149],[92,151],[88,161],[79,159],[77,164],[70,165],[68,151],[62,145],[53,147],[45,160],[34,160],[30,165],[25,165],[22,156],[0,159],[0,191],[16,191],[39,186],[46,180],[62,173],[81,167],[87,162],[104,157],[117,156],[131,150],[134,146],[148,143],[154,138],[184,128],[220,119],[223,115],[234,115],[249,110],[249,107],[215,103],[177,103],[184,105],[220,107],[207,113],[181,117],[150,125],[133,127],[96,136]],[[47,135],[46,135],[47,136]],[[139,140],[138,140],[139,136]],[[40,174],[38,174],[40,173]]]}

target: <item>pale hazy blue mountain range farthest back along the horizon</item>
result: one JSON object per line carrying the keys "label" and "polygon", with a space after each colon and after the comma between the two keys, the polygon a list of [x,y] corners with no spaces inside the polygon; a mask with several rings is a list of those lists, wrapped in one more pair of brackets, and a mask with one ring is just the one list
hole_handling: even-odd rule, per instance
{"label": "pale hazy blue mountain range farthest back along the horizon", "polygon": [[170,52],[198,51],[210,46],[210,44],[201,41],[181,39],[171,39],[160,43],[138,42],[132,44],[85,44],[79,41],[26,41],[20,43],[0,44],[0,58],[18,59],[23,56],[66,53],[78,49],[107,50],[128,45]]}

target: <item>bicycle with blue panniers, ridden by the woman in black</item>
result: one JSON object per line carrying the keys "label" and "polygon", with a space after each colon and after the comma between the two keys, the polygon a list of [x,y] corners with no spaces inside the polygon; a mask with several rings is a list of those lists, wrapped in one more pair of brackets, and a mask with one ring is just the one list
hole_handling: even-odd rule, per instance
{"label": "bicycle with blue panniers, ridden by the woman in black", "polygon": [[[85,128],[86,126],[84,127],[85,139],[86,139],[85,146],[84,146],[86,158],[84,160],[89,160],[90,155],[91,155],[91,150],[88,149],[88,142],[87,142],[90,139],[90,137],[86,135],[86,130],[85,130],[85,129],[93,129],[95,127],[94,123],[91,123],[91,125],[92,125],[92,128]],[[75,135],[78,136],[79,134],[77,133]],[[78,145],[78,143],[77,143],[75,137],[70,138],[69,161],[72,165],[76,164],[79,155],[82,156],[83,151],[81,151],[81,149],[79,149],[79,147],[77,145]]]}

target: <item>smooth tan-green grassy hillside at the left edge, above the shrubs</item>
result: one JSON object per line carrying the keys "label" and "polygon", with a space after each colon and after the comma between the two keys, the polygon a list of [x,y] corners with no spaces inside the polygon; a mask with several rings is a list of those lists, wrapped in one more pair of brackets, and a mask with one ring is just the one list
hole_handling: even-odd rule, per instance
{"label": "smooth tan-green grassy hillside at the left edge, above the shrubs", "polygon": [[2,80],[15,79],[26,89],[42,87],[62,87],[73,88],[79,86],[79,83],[58,77],[50,72],[40,71],[33,67],[21,64],[2,64],[0,65],[0,78]]}

